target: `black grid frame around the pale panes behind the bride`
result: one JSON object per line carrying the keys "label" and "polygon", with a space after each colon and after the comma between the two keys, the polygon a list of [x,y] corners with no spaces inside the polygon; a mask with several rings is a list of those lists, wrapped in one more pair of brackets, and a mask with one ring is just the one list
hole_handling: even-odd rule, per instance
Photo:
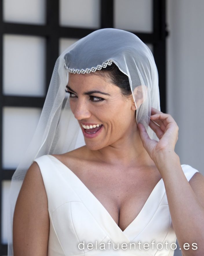
{"label": "black grid frame around the pale panes behind the bride", "polygon": [[[6,0],[4,0],[6,1]],[[3,107],[35,107],[42,108],[45,97],[28,97],[3,95],[3,35],[33,35],[40,36],[46,39],[46,92],[49,86],[50,78],[54,68],[55,61],[59,54],[59,39],[60,38],[76,38],[80,39],[95,31],[91,28],[80,27],[62,27],[59,26],[59,1],[46,0],[46,23],[45,25],[32,24],[17,24],[3,21],[3,1],[0,1],[0,214],[1,214],[1,194],[2,181],[11,180],[14,169],[2,168],[2,112]],[[152,0],[153,3],[153,31],[152,33],[137,33],[143,42],[153,45],[153,54],[159,73],[159,91],[161,111],[166,112],[166,0]],[[114,28],[114,0],[100,0],[100,27],[99,28]],[[0,215],[1,220],[1,215]],[[0,221],[1,230],[1,221]],[[1,237],[0,237],[1,238]],[[2,241],[2,239],[1,239]],[[0,243],[0,255],[7,255],[7,245]]]}

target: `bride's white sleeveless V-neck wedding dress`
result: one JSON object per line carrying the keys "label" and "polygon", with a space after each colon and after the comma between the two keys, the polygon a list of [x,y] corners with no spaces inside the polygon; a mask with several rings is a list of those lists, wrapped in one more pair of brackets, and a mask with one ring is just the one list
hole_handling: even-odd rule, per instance
{"label": "bride's white sleeveless V-neck wedding dress", "polygon": [[[137,217],[122,231],[84,183],[56,157],[43,155],[34,161],[40,167],[48,199],[48,256],[174,254],[170,245],[176,242],[176,235],[163,179]],[[188,181],[197,172],[189,165],[181,167]]]}

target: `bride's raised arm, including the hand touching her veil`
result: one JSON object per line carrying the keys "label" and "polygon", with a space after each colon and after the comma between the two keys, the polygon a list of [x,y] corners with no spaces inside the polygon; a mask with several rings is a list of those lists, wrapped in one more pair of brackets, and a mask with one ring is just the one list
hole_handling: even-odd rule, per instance
{"label": "bride's raised arm, including the hand touching her veil", "polygon": [[157,134],[159,142],[151,140],[144,126],[138,124],[140,137],[162,176],[172,225],[182,254],[203,256],[204,177],[201,173],[195,173],[190,182],[186,179],[179,156],[174,151],[179,128],[169,114],[152,108],[149,126]]}

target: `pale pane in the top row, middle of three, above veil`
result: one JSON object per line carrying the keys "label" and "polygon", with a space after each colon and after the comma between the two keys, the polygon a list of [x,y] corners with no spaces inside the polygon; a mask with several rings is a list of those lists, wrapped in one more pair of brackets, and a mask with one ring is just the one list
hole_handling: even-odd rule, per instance
{"label": "pale pane in the top row, middle of three, above veil", "polygon": [[99,0],[60,0],[60,25],[99,28]]}

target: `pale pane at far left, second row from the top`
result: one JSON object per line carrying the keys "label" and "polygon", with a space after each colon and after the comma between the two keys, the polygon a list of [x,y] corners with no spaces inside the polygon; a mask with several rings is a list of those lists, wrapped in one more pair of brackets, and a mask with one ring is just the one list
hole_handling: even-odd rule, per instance
{"label": "pale pane at far left, second row from the top", "polygon": [[3,36],[3,93],[45,94],[45,39],[35,36]]}

